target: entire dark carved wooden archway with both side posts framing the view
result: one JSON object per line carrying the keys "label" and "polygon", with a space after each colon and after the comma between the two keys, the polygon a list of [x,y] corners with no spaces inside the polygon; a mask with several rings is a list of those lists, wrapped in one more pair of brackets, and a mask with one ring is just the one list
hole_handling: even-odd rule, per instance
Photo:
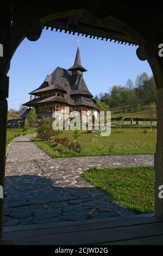
{"label": "entire dark carved wooden archway with both side posts framing the view", "polygon": [[[17,10],[16,10],[17,11]],[[14,14],[14,9],[11,10]],[[27,16],[28,14],[28,16]],[[106,17],[96,17],[95,13],[91,14],[86,9],[68,9],[66,11],[57,11],[51,8],[32,7],[32,5],[24,5],[21,7],[20,12],[14,16],[12,21],[10,13],[5,14],[2,20],[2,25],[7,26],[7,29],[2,30],[1,34],[3,42],[3,57],[0,57],[1,74],[0,74],[0,115],[3,123],[0,132],[0,178],[4,182],[4,166],[5,166],[5,139],[6,139],[6,121],[7,121],[7,101],[8,93],[5,88],[8,86],[7,73],[10,66],[10,60],[16,51],[18,45],[27,36],[29,40],[37,40],[40,38],[42,27],[51,27],[51,29],[64,29],[67,33],[85,34],[85,36],[101,38],[101,40],[115,40],[119,43],[128,43],[139,45],[137,56],[142,59],[148,60],[152,68],[155,78],[156,86],[158,88],[158,142],[155,156],[155,169],[156,169],[156,216],[163,217],[163,202],[157,199],[158,185],[163,184],[163,63],[157,55],[157,44],[152,44],[148,39],[139,33],[133,26],[123,22],[123,19],[118,19],[114,15]],[[1,21],[1,17],[0,17]],[[12,23],[11,23],[12,21]],[[1,24],[0,24],[1,25]],[[11,33],[10,33],[11,32]],[[1,39],[1,37],[0,37]],[[161,43],[161,42],[160,42]],[[3,216],[3,203],[0,205],[0,239],[2,240],[2,216]]]}

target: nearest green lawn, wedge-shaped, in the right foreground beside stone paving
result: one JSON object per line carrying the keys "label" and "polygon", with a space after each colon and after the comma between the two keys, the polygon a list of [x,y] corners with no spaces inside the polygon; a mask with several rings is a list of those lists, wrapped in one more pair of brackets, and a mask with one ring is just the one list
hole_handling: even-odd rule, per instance
{"label": "nearest green lawn, wedge-shaped, in the right foreground beside stone paving", "polygon": [[91,168],[84,178],[137,214],[154,211],[154,168]]}

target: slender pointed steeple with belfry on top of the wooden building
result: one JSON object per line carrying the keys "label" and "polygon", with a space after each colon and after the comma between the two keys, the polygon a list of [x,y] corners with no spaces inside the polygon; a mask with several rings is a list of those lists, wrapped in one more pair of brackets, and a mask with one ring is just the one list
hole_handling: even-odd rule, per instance
{"label": "slender pointed steeple with belfry on top of the wooden building", "polygon": [[72,76],[82,75],[83,72],[87,71],[82,66],[81,57],[80,57],[79,43],[78,43],[77,54],[76,54],[76,59],[74,61],[74,65],[68,70],[72,71]]}

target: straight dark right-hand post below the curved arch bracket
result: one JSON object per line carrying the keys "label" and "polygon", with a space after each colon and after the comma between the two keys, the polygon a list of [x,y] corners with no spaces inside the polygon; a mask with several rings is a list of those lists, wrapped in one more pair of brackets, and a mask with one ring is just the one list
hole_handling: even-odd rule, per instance
{"label": "straight dark right-hand post below the curved arch bracket", "polygon": [[163,198],[159,198],[159,186],[163,185],[163,88],[158,92],[157,142],[155,153],[155,216],[163,218]]}

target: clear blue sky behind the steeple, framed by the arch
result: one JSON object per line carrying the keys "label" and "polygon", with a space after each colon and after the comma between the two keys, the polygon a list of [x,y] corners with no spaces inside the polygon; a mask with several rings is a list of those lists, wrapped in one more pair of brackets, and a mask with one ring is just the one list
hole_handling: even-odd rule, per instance
{"label": "clear blue sky behind the steeple, framed by the arch", "polygon": [[152,75],[147,61],[136,56],[136,47],[121,45],[84,36],[46,31],[35,42],[24,39],[11,60],[9,77],[9,108],[18,109],[29,100],[29,92],[43,82],[57,66],[68,69],[74,63],[78,39],[82,65],[87,70],[84,79],[93,95],[109,92],[118,84],[125,86],[128,78],[133,82],[137,75]]}

